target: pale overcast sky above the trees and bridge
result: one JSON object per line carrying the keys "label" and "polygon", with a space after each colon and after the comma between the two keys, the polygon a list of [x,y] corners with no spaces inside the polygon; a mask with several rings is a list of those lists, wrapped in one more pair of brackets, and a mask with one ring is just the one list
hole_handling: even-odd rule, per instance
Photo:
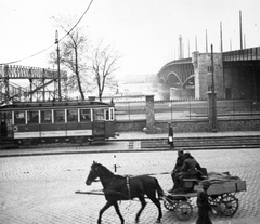
{"label": "pale overcast sky above the trees and bridge", "polygon": [[[0,0],[0,63],[29,57],[52,44],[57,23],[52,18],[80,18],[90,0]],[[179,35],[184,57],[213,44],[220,50],[222,22],[223,50],[239,45],[239,10],[246,48],[260,45],[259,0],[93,0],[79,26],[86,27],[93,42],[104,39],[121,55],[117,74],[157,74],[169,61],[178,58]],[[60,37],[63,35],[60,31]],[[53,45],[18,65],[48,67]]]}

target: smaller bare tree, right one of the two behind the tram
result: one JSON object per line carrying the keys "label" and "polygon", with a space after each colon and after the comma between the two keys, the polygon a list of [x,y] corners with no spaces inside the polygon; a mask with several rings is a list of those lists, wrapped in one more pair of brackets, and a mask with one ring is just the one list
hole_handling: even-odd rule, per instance
{"label": "smaller bare tree, right one of the two behind the tram", "polygon": [[99,44],[94,49],[91,69],[98,83],[100,101],[102,101],[105,83],[110,80],[113,73],[118,69],[117,63],[119,58],[118,53],[109,45],[102,48],[102,44]]}

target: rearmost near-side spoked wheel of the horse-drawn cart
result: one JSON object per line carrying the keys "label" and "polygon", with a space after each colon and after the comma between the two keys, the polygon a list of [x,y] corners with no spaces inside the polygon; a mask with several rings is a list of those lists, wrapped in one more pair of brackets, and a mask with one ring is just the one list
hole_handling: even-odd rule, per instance
{"label": "rearmost near-side spoked wheel of the horse-drawn cart", "polygon": [[235,214],[238,209],[238,199],[234,195],[224,195],[220,200],[220,209],[225,216]]}

